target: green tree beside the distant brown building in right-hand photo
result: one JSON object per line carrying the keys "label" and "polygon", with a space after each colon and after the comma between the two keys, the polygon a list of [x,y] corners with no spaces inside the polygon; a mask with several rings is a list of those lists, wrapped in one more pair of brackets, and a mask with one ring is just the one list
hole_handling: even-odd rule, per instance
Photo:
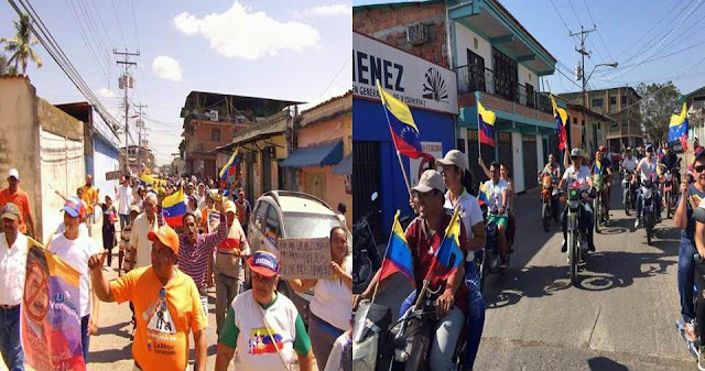
{"label": "green tree beside the distant brown building in right-hand photo", "polygon": [[671,114],[680,112],[681,90],[672,81],[664,84],[644,83],[637,86],[639,116],[644,131],[655,142],[668,140]]}

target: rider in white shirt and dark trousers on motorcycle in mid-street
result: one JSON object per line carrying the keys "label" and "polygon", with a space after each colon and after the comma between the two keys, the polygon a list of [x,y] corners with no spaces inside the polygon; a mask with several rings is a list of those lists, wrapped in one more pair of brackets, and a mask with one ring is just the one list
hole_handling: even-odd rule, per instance
{"label": "rider in white shirt and dark trousers on motorcycle in mid-street", "polygon": [[[593,177],[587,166],[583,165],[584,160],[583,150],[575,148],[571,150],[571,166],[568,166],[568,151],[565,151],[564,164],[565,173],[558,183],[558,188],[563,189],[568,182],[577,182],[581,190],[587,190],[593,187]],[[561,252],[566,252],[567,247],[567,230],[568,230],[568,206],[563,209],[563,244]],[[581,223],[582,227],[587,230],[587,245],[590,251],[595,251],[595,243],[593,239],[593,207],[590,203],[581,203]]]}

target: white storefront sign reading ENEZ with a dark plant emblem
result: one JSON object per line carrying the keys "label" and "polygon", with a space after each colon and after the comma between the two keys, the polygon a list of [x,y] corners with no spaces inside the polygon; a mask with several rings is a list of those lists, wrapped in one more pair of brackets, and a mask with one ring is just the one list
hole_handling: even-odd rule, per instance
{"label": "white storefront sign reading ENEZ with a dark plant emblem", "polygon": [[458,113],[454,72],[352,32],[352,95],[379,99],[376,80],[410,107]]}

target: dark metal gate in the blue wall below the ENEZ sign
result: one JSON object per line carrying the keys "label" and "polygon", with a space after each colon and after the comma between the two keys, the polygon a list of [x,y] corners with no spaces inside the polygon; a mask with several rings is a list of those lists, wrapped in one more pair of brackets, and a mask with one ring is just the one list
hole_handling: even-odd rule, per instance
{"label": "dark metal gate in the blue wall below the ENEZ sign", "polygon": [[[352,222],[382,205],[379,159],[380,142],[352,141]],[[370,196],[375,192],[378,199],[372,201]],[[372,214],[370,220],[376,239],[381,236],[379,218],[379,214]]]}

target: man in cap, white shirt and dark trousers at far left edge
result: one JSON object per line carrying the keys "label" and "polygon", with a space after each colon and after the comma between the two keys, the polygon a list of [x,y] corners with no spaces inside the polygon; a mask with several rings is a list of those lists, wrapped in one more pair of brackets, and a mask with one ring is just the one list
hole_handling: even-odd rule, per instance
{"label": "man in cap, white shirt and dark trousers at far left edge", "polygon": [[2,207],[0,233],[0,354],[10,371],[24,370],[20,303],[26,272],[28,238],[20,231],[20,208]]}

